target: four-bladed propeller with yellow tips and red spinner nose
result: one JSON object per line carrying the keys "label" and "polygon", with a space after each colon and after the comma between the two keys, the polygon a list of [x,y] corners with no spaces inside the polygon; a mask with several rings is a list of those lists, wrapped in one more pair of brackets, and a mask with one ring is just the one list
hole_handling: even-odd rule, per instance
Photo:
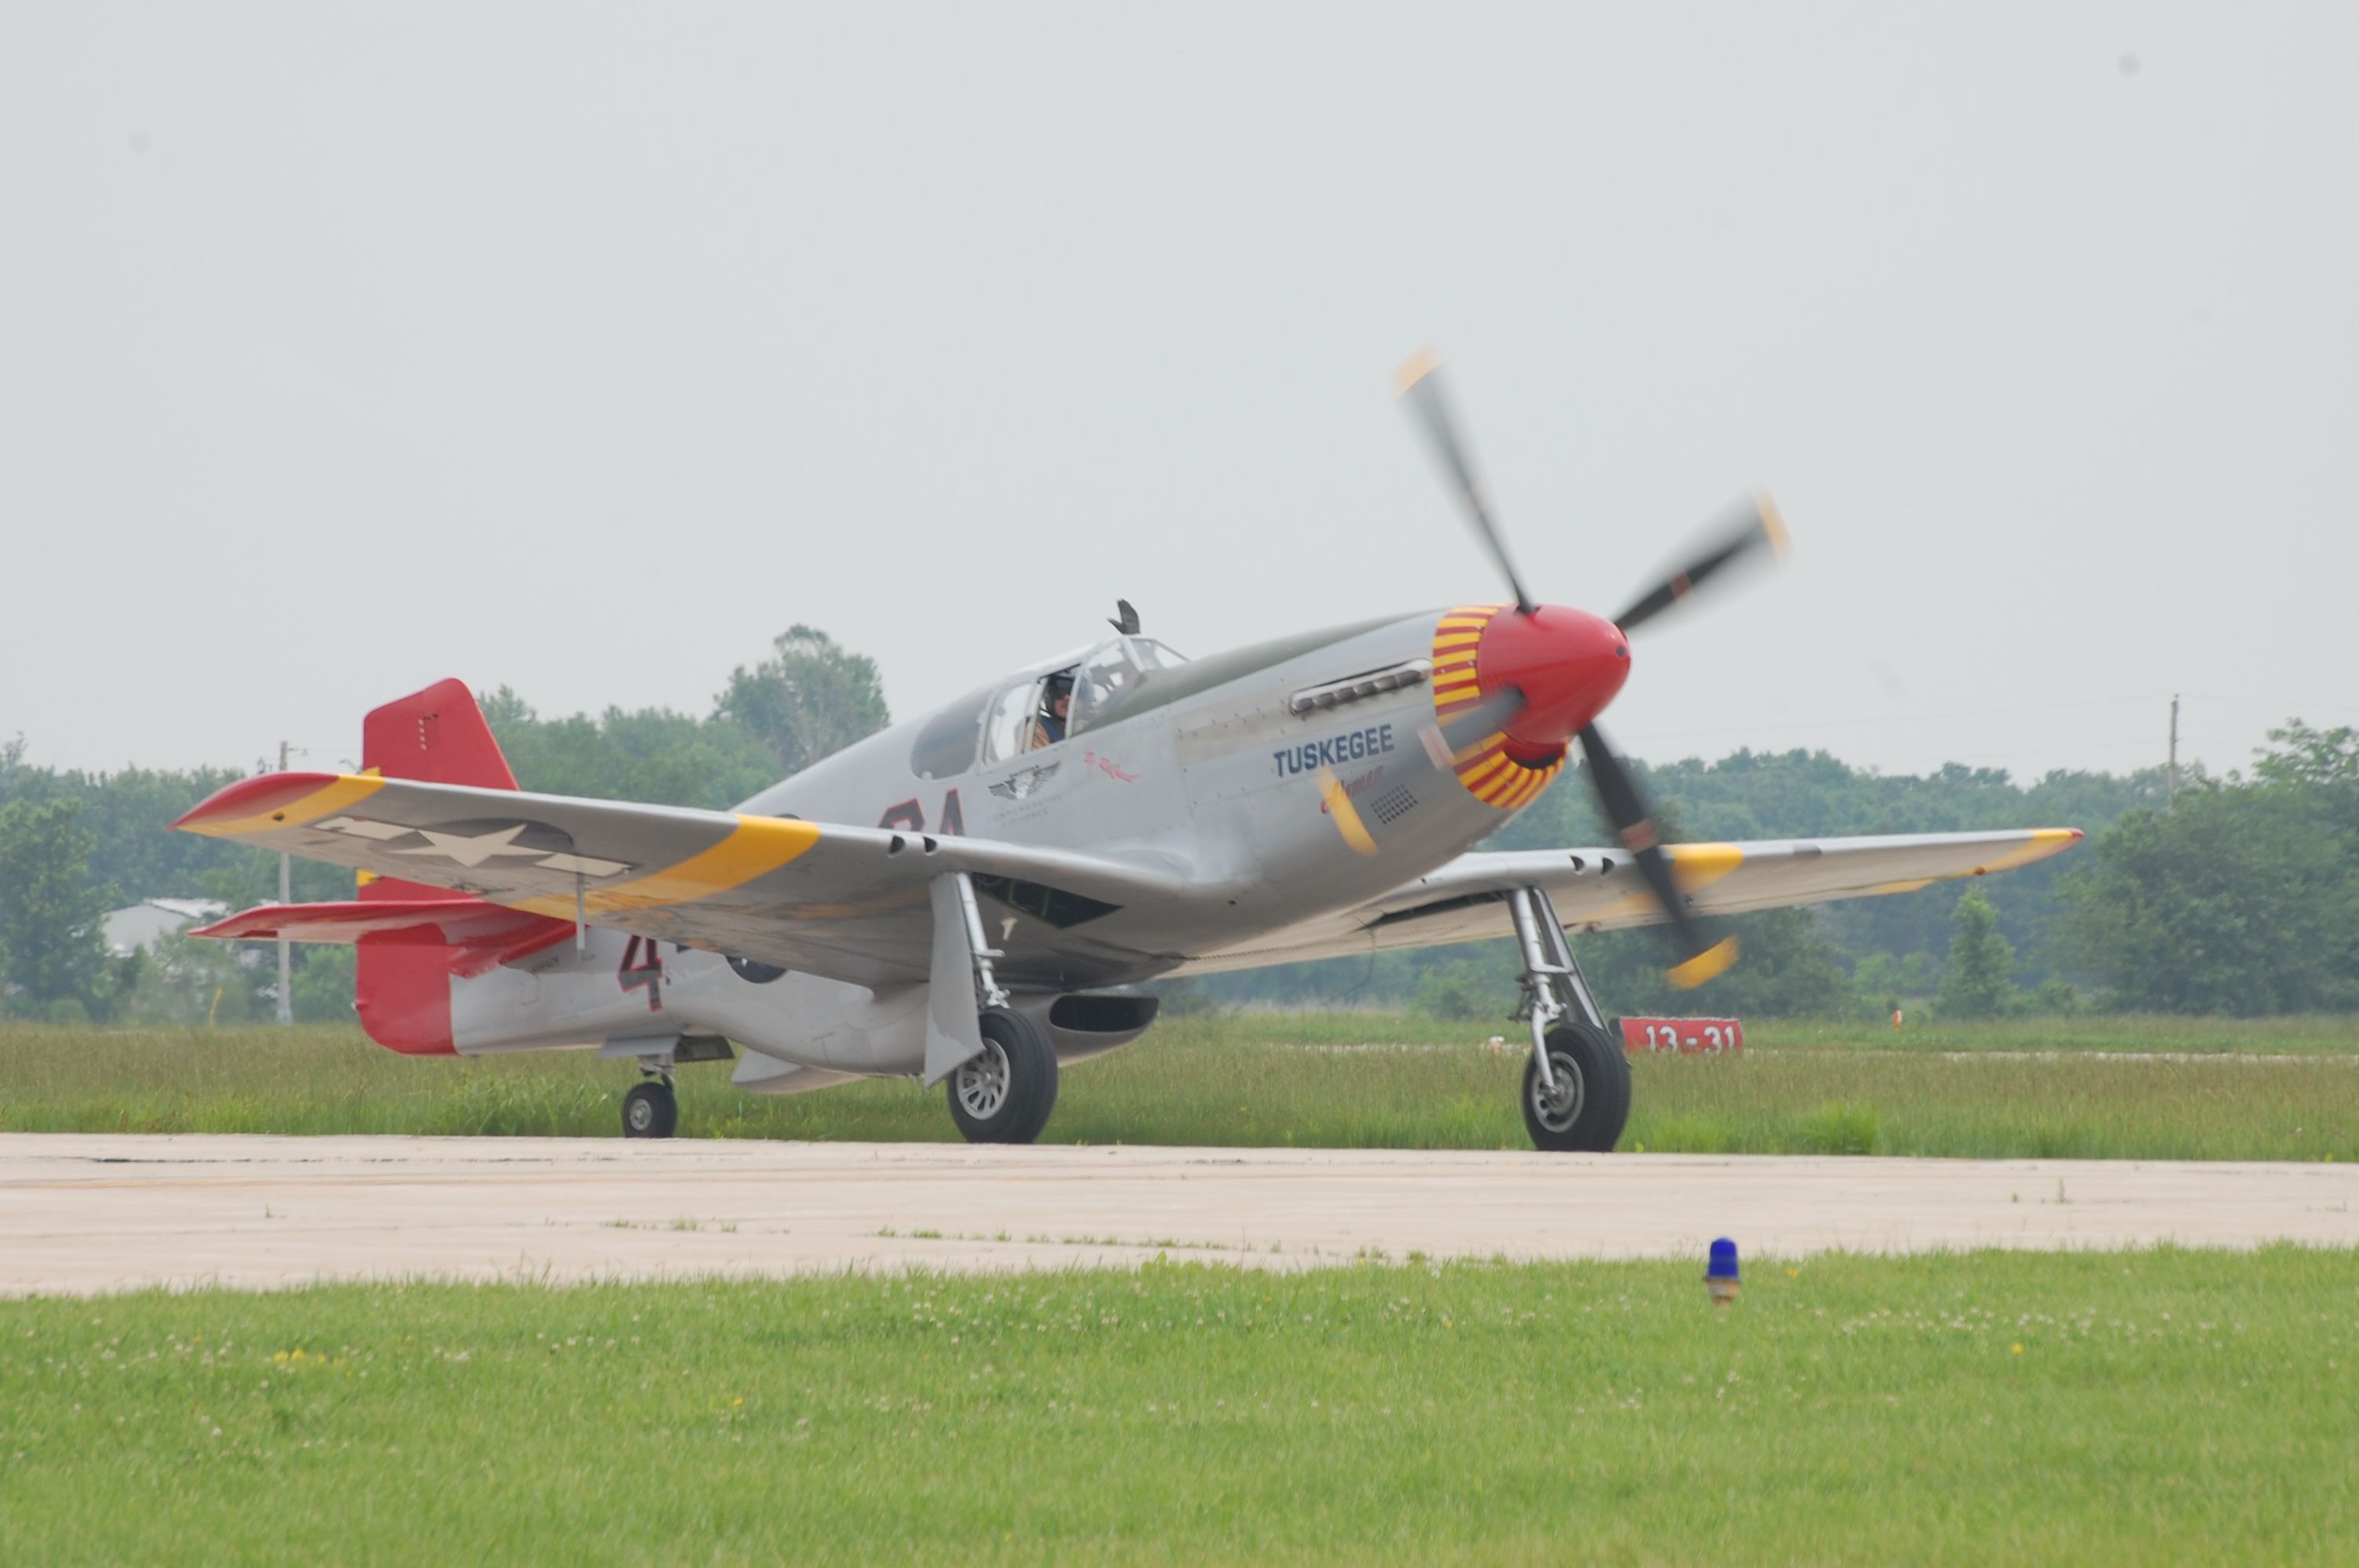
{"label": "four-bladed propeller with yellow tips and red spinner nose", "polygon": [[1408,403],[1434,443],[1451,483],[1458,486],[1474,533],[1491,549],[1491,559],[1498,561],[1498,571],[1514,594],[1514,613],[1498,615],[1481,634],[1477,681],[1484,700],[1446,731],[1446,740],[1463,747],[1493,731],[1505,733],[1507,757],[1524,766],[1548,766],[1564,755],[1569,740],[1578,740],[1597,804],[1670,920],[1670,934],[1680,950],[1680,962],[1668,971],[1670,983],[1701,986],[1736,962],[1736,938],[1708,943],[1687,913],[1687,901],[1673,877],[1673,861],[1656,837],[1647,797],[1630,778],[1630,769],[1606,745],[1604,731],[1597,729],[1597,714],[1630,674],[1628,632],[1684,604],[1708,580],[1727,582],[1734,575],[1732,568],[1760,561],[1765,549],[1783,556],[1786,523],[1779,521],[1769,498],[1755,490],[1750,502],[1703,535],[1703,545],[1687,566],[1642,592],[1614,620],[1538,604],[1524,589],[1524,580],[1507,556],[1507,540],[1491,516],[1491,502],[1474,476],[1467,446],[1458,439],[1458,422],[1451,417],[1432,351],[1401,365],[1399,389],[1401,401]]}

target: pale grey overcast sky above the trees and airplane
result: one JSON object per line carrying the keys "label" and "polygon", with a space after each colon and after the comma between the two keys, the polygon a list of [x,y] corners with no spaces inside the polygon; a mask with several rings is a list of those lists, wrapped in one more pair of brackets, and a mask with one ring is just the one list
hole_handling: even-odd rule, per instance
{"label": "pale grey overcast sky above the trees and airplane", "polygon": [[2359,7],[0,5],[0,736],[333,766],[443,674],[896,714],[1538,597],[1767,486],[1609,729],[2359,722]]}

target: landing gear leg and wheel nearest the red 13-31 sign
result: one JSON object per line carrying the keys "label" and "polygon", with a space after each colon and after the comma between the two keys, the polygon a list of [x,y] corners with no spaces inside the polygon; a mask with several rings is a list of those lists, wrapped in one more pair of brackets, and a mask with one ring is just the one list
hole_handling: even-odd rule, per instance
{"label": "landing gear leg and wheel nearest the red 13-31 sign", "polygon": [[1531,1023],[1524,1129],[1538,1148],[1606,1153],[1630,1120],[1630,1059],[1606,1033],[1548,891],[1514,889],[1507,913],[1524,953],[1514,1016]]}

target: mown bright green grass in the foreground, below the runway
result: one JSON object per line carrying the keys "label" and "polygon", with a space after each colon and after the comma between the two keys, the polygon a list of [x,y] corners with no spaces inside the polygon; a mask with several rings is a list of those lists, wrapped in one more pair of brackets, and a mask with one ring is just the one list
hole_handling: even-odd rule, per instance
{"label": "mown bright green grass in the foreground, below the runway", "polygon": [[[0,1559],[2331,1561],[2359,1259],[0,1304]],[[2347,1559],[2345,1559],[2347,1561]]]}

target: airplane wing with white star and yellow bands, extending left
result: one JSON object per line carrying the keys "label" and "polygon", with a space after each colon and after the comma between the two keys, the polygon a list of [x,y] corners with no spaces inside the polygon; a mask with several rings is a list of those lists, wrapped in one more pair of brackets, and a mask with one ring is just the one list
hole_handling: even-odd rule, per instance
{"label": "airplane wing with white star and yellow bands, extending left", "polygon": [[929,884],[951,870],[1111,905],[1184,887],[1184,868],[1066,849],[375,773],[248,778],[172,825],[859,986],[929,976]]}

